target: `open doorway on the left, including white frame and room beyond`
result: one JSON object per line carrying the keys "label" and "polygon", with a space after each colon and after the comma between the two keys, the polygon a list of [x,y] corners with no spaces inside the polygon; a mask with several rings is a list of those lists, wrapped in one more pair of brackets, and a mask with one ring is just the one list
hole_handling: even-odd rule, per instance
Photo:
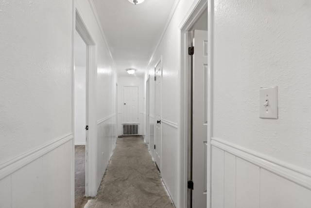
{"label": "open doorway on the left, including white frame and room beyond", "polygon": [[[88,32],[78,8],[75,12],[75,35],[73,55],[75,60],[73,76],[73,132],[75,144],[80,147],[80,159],[75,169],[80,175],[79,188],[86,196],[95,196],[96,187],[96,45]],[[84,167],[83,167],[84,166]],[[84,173],[84,174],[83,174]],[[76,178],[77,179],[77,178]],[[84,179],[84,182],[83,182]],[[84,186],[83,186],[84,185]],[[78,185],[77,185],[78,188]],[[84,190],[83,190],[84,188]]]}

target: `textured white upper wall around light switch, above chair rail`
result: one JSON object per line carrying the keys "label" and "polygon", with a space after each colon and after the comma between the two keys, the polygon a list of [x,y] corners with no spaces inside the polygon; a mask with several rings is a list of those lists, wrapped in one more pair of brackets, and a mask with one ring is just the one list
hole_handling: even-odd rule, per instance
{"label": "textured white upper wall around light switch, above chair rail", "polygon": [[[311,170],[311,2],[215,0],[213,137]],[[278,119],[259,88],[278,86]]]}

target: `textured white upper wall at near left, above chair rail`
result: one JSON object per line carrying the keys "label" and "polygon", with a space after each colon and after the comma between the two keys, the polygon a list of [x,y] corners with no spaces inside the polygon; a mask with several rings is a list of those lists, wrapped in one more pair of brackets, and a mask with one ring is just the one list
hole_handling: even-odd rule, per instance
{"label": "textured white upper wall at near left, above chair rail", "polygon": [[72,2],[0,3],[0,161],[71,132]]}

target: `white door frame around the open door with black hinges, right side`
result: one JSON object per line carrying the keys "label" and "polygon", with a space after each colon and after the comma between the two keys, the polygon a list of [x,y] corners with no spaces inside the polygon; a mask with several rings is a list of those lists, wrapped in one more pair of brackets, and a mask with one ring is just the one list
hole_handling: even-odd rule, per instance
{"label": "white door frame around the open door with black hinges, right side", "polygon": [[190,47],[190,28],[194,25],[195,21],[199,19],[202,13],[207,8],[208,16],[208,31],[207,31],[207,41],[208,41],[208,57],[207,57],[207,208],[210,208],[210,138],[211,138],[211,99],[212,99],[212,34],[213,34],[213,0],[196,0],[185,18],[179,25],[180,29],[180,75],[179,75],[179,86],[180,86],[180,207],[187,208],[188,204],[188,135],[189,131],[189,119],[190,119],[190,58],[188,56],[188,47]]}

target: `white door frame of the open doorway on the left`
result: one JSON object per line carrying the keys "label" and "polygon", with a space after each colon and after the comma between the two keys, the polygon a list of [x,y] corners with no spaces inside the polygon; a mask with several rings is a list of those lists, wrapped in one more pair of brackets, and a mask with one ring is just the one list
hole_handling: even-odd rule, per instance
{"label": "white door frame of the open doorway on the left", "polygon": [[[96,146],[97,146],[97,120],[96,120],[96,83],[97,83],[97,46],[86,28],[82,13],[75,2],[75,29],[86,43],[86,197],[96,196]],[[72,46],[73,47],[73,46]],[[73,83],[74,89],[74,83]],[[74,108],[74,102],[73,102]],[[73,120],[74,121],[74,120]]]}

